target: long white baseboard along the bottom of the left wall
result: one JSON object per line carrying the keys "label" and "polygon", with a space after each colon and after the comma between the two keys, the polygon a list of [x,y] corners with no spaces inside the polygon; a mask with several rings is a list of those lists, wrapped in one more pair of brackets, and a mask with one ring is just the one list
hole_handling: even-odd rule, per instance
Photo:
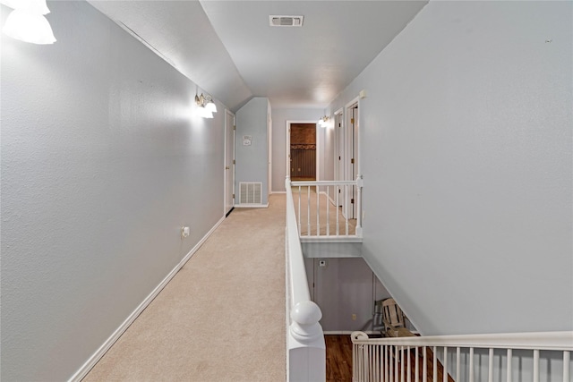
{"label": "long white baseboard along the bottom of the left wall", "polygon": [[106,352],[112,347],[112,345],[115,344],[115,341],[117,341],[119,337],[121,337],[121,335],[124,334],[125,330],[127,330],[127,328],[133,324],[135,318],[138,318],[141,312],[145,310],[145,308],[147,308],[148,305],[150,305],[151,301],[153,301],[153,299],[157,297],[157,295],[163,290],[163,288],[165,288],[165,286],[169,283],[169,281],[171,281],[171,279],[177,274],[177,272],[179,272],[179,270],[182,267],[184,267],[185,263],[192,258],[192,255],[201,248],[201,245],[203,245],[203,243],[207,241],[211,233],[213,233],[218,228],[218,226],[221,225],[221,223],[223,223],[224,220],[225,216],[221,217],[221,219],[210,229],[210,231],[207,234],[205,234],[205,236],[203,236],[203,238],[199,242],[197,242],[197,244],[192,248],[192,250],[190,250],[185,255],[185,257],[179,262],[179,264],[177,264],[173,268],[173,270],[171,270],[171,272],[169,272],[169,274],[165,276],[165,278],[161,281],[161,283],[159,283],[158,286],[156,286],[156,288],[145,298],[145,300],[143,300],[141,304],[135,310],[133,310],[132,314],[130,314],[127,318],[125,318],[122,325],[120,325],[117,329],[115,329],[115,332],[112,335],[110,335],[109,338],[107,338],[106,342],[102,344],[99,347],[99,349],[91,355],[88,361],[86,361],[81,366],[81,368],[75,372],[75,374],[73,374],[72,378],[70,378],[68,382],[79,382],[86,375],[88,375],[90,369],[96,366],[96,363],[98,363],[101,357],[103,357],[104,354],[106,354]]}

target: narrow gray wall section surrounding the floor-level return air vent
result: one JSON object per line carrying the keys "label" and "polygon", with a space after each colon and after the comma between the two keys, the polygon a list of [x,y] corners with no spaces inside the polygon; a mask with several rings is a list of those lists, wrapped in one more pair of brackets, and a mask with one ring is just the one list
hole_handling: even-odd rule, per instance
{"label": "narrow gray wall section surrounding the floor-level return air vent", "polygon": [[[255,97],[235,115],[235,203],[239,203],[240,182],[262,182],[262,204],[269,201],[269,98]],[[243,137],[252,137],[244,146]]]}

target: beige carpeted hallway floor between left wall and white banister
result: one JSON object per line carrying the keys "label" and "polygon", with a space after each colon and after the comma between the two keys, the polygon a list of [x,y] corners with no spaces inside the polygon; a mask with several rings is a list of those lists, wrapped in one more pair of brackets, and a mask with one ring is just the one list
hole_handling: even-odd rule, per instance
{"label": "beige carpeted hallway floor between left wall and white banister", "polygon": [[235,208],[84,381],[286,380],[285,199]]}

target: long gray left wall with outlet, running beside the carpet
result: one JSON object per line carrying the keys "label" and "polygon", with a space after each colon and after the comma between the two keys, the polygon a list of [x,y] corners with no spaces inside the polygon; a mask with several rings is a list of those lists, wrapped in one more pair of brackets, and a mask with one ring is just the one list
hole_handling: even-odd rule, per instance
{"label": "long gray left wall with outlet, running beside the carpet", "polygon": [[70,378],[223,211],[225,113],[193,117],[195,85],[90,4],[48,5],[56,44],[1,40],[5,381]]}

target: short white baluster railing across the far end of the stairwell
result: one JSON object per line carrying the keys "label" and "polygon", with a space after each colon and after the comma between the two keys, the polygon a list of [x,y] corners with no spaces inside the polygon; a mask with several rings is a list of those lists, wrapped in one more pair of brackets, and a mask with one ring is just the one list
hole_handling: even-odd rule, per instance
{"label": "short white baluster railing across the far end of the stairwell", "polygon": [[301,238],[361,238],[363,178],[355,181],[289,182]]}

